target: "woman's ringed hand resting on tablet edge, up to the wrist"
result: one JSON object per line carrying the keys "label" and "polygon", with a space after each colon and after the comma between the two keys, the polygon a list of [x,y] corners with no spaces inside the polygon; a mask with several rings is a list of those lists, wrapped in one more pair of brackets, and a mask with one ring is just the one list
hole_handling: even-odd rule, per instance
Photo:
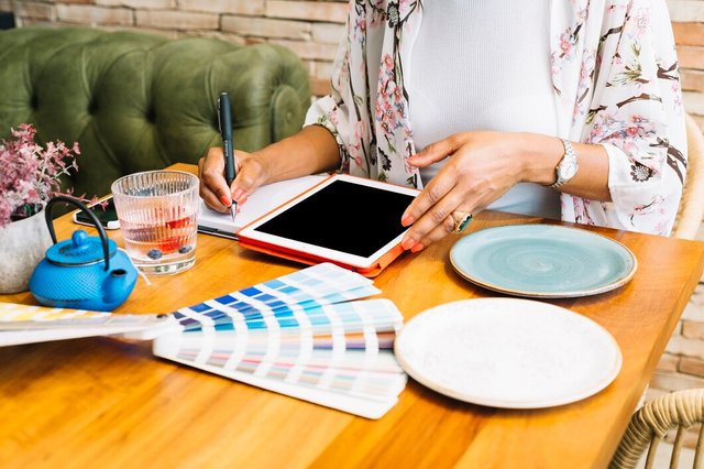
{"label": "woman's ringed hand resting on tablet edge, up to the wrist", "polygon": [[521,182],[516,135],[455,133],[406,160],[413,166],[425,167],[450,159],[404,212],[403,226],[413,227],[402,241],[403,248],[420,251],[453,232],[465,215],[476,215]]}

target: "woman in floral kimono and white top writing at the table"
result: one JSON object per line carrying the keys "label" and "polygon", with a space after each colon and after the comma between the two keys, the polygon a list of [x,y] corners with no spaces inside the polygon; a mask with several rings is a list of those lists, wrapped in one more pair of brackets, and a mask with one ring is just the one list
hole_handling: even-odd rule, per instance
{"label": "woman in floral kimono and white top writing at the table", "polygon": [[663,0],[355,0],[333,94],[298,134],[246,154],[219,210],[263,184],[338,168],[425,187],[402,223],[418,251],[484,208],[669,234],[686,168]]}

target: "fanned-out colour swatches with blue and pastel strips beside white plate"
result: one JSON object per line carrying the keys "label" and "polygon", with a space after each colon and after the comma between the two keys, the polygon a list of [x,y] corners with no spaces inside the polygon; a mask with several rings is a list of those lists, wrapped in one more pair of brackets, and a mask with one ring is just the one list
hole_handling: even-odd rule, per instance
{"label": "fanned-out colour swatches with blue and pastel strips beside white plate", "polygon": [[378,418],[406,374],[403,317],[372,281],[323,263],[174,313],[154,355],[243,383]]}

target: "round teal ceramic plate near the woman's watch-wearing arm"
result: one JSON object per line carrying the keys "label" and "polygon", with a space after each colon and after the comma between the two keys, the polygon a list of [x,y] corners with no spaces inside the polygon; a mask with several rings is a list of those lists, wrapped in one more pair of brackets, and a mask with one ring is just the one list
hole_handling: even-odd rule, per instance
{"label": "round teal ceramic plate near the woman's watch-wearing arm", "polygon": [[460,239],[452,266],[472,283],[539,298],[588,296],[618,288],[638,262],[622,243],[591,231],[550,225],[487,228]]}

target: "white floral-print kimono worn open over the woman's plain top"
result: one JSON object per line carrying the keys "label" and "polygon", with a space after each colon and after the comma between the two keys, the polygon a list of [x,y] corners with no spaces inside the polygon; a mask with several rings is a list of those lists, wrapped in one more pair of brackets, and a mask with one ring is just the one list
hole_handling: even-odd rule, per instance
{"label": "white floral-print kimono worn open over the woman's plain top", "polygon": [[[438,0],[350,2],[333,92],[306,118],[306,124],[323,126],[336,137],[341,171],[421,187],[418,170],[406,163],[415,145],[404,65],[424,3],[431,1]],[[686,135],[664,0],[553,0],[550,9],[546,53],[557,137],[604,145],[613,199],[562,194],[562,219],[669,234],[686,173]]]}

